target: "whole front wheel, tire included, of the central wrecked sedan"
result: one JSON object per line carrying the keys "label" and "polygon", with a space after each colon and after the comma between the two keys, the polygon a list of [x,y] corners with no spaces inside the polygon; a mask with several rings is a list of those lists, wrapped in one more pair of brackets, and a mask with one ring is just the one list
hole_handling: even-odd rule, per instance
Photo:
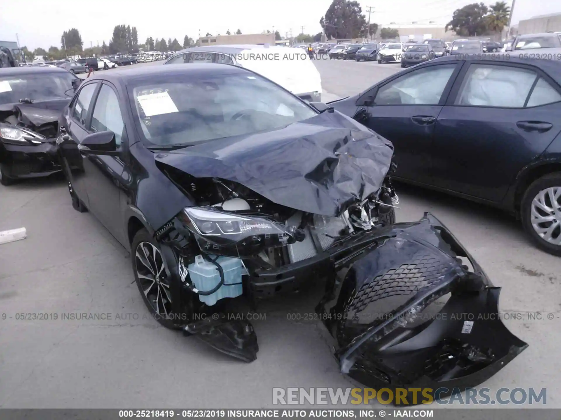
{"label": "whole front wheel, tire included, of the central wrecked sedan", "polygon": [[132,240],[131,260],[136,286],[150,314],[166,328],[180,328],[174,322],[171,279],[165,273],[159,245],[145,229],[139,230]]}

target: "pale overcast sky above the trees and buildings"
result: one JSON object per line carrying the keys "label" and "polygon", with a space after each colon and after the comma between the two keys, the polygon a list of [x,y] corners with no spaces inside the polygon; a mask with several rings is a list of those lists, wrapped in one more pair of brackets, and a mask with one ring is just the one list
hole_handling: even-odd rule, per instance
{"label": "pale overcast sky above the trees and buildings", "polygon": [[[199,33],[222,34],[238,28],[243,34],[278,30],[282,36],[302,32],[317,34],[319,20],[331,0],[19,0],[2,2],[0,40],[16,41],[33,50],[60,48],[62,32],[72,27],[80,31],[84,48],[109,43],[116,25],[136,26],[139,42],[146,38],[198,38]],[[362,11],[373,6],[370,20],[379,25],[419,24],[434,21],[445,25],[457,8],[475,0],[387,0],[360,1]],[[485,1],[491,4],[495,1]],[[510,5],[512,0],[507,0]],[[48,4],[48,5],[47,5]],[[83,5],[83,6],[82,6]],[[536,15],[561,12],[560,0],[516,0],[512,24]],[[200,32],[199,32],[200,31]]]}

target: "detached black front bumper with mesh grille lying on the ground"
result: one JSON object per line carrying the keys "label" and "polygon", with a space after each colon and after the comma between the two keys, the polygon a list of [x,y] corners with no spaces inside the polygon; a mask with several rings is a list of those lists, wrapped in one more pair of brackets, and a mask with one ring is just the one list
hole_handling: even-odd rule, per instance
{"label": "detached black front bumper with mesh grille lying on the ground", "polygon": [[335,261],[316,308],[342,373],[376,389],[446,388],[444,396],[481,384],[527,347],[500,320],[500,288],[430,213],[375,236],[362,254]]}

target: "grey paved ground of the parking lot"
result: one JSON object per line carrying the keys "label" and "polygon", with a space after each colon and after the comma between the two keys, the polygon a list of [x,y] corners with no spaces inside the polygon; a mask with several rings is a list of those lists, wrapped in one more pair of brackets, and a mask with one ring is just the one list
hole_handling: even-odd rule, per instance
{"label": "grey paved ground of the parking lot", "polygon": [[[343,60],[316,66],[324,101],[401,70]],[[482,386],[547,388],[547,406],[561,408],[559,258],[537,250],[500,211],[406,185],[397,192],[398,221],[435,214],[504,287],[500,310],[522,314],[504,323],[530,347]],[[356,385],[339,374],[319,321],[305,319],[322,295],[319,279],[257,307],[259,353],[247,364],[147,316],[130,258],[90,213],[73,210],[62,178],[0,185],[0,231],[17,227],[27,229],[27,238],[0,245],[2,408],[261,408],[272,407],[274,387]],[[542,319],[529,319],[535,312]],[[293,313],[301,320],[288,320]],[[27,314],[44,319],[20,319]],[[71,319],[81,314],[86,319]]]}

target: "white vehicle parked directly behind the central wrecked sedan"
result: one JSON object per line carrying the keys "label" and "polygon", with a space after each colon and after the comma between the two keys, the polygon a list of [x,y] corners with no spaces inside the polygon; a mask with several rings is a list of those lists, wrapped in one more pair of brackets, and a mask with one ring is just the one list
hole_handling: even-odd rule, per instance
{"label": "white vehicle parked directly behind the central wrecked sedan", "polygon": [[187,48],[164,64],[222,63],[265,76],[308,102],[321,101],[321,77],[301,48],[278,45],[213,45]]}

